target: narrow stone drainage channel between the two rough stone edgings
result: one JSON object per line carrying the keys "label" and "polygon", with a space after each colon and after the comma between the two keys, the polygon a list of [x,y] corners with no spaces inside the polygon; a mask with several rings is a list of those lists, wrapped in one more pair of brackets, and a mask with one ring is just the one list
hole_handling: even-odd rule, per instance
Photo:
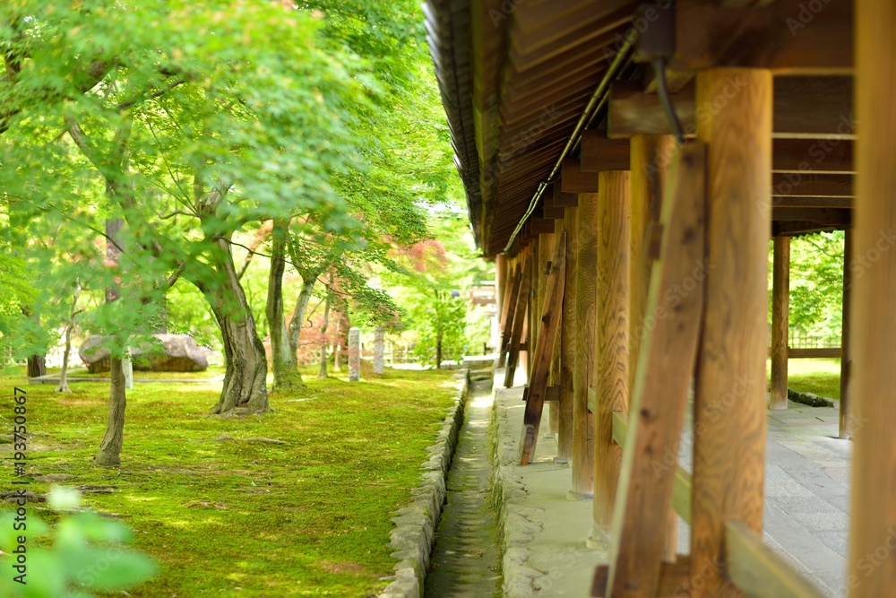
{"label": "narrow stone drainage channel between the two rough stone edgings", "polygon": [[448,471],[448,497],[435,530],[426,598],[500,595],[501,550],[491,507],[491,410],[491,393],[478,391],[470,396]]}

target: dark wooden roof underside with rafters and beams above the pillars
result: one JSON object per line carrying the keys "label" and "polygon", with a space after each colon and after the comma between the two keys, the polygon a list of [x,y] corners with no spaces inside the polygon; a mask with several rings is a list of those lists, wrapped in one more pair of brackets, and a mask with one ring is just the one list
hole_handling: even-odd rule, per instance
{"label": "dark wooden roof underside with rafters and beams above the pillars", "polygon": [[[519,225],[539,185],[559,180],[564,148],[581,158],[571,136],[602,83],[607,93],[595,98],[587,128],[610,137],[669,133],[649,65],[624,56],[606,77],[638,4],[427,0],[435,71],[485,255],[503,252],[518,228],[522,241],[553,230],[550,186]],[[699,113],[696,70],[775,70],[772,230],[785,235],[848,228],[852,206],[852,4],[831,0],[806,27],[799,12],[800,0],[678,0],[668,69],[685,132]]]}

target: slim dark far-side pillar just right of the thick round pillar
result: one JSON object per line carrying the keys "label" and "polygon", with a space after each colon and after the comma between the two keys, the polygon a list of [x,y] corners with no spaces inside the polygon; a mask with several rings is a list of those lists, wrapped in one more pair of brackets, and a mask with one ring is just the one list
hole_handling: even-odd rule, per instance
{"label": "slim dark far-side pillar just right of the thick round pillar", "polygon": [[790,238],[775,237],[771,265],[771,409],[787,409]]}

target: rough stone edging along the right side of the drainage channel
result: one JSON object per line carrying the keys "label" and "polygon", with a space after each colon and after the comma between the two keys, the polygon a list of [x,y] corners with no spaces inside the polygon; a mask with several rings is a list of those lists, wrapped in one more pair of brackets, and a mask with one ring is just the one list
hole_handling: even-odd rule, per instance
{"label": "rough stone edging along the right side of the drainage channel", "polygon": [[[496,393],[495,393],[496,394]],[[492,505],[498,513],[498,530],[501,537],[502,573],[504,596],[529,598],[536,596],[547,574],[528,565],[529,542],[540,532],[542,524],[532,521],[542,509],[524,507],[520,503],[528,496],[522,476],[513,470],[517,464],[517,446],[513,435],[504,434],[507,415],[495,401],[489,431],[492,437]]]}

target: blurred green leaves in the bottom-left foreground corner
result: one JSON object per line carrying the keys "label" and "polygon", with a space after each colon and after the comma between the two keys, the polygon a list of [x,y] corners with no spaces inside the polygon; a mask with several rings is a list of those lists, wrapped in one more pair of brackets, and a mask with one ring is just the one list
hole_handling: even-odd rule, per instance
{"label": "blurred green leaves in the bottom-left foreground corner", "polygon": [[[47,498],[56,511],[78,507],[76,490],[55,488]],[[15,530],[16,514],[0,514],[0,593],[13,598],[88,598],[90,590],[124,590],[150,579],[157,572],[155,563],[135,550],[125,548],[134,541],[134,533],[114,519],[93,511],[63,516],[50,528],[33,513],[27,515],[26,528]],[[21,524],[21,523],[20,523]],[[51,546],[37,540],[52,537]],[[16,570],[18,539],[24,537],[24,584],[14,581],[22,574]],[[36,543],[37,542],[37,543]]]}

